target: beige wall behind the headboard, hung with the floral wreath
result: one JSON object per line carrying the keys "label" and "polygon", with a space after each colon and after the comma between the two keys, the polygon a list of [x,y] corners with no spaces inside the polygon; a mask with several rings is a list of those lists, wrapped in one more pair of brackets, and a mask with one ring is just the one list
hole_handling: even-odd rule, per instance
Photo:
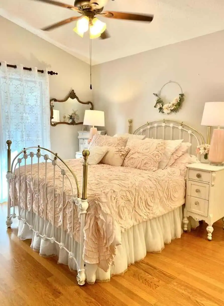
{"label": "beige wall behind the headboard, hung with the floral wreath", "polygon": [[[94,105],[105,110],[108,135],[127,132],[128,118],[134,128],[169,118],[185,121],[205,136],[206,128],[200,126],[204,103],[224,101],[223,56],[224,31],[94,66]],[[152,93],[169,80],[181,84],[185,101],[177,114],[159,114]],[[163,90],[167,102],[178,93],[177,85]]]}

